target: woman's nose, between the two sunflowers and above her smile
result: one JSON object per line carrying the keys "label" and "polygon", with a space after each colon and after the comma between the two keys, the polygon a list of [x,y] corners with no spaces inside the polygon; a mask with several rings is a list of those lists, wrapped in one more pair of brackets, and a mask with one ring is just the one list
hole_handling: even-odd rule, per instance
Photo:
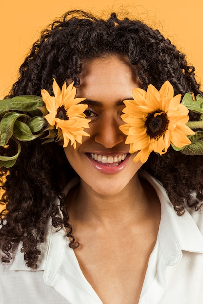
{"label": "woman's nose, between the two sunflowers and above her smile", "polygon": [[[118,121],[119,120],[119,121]],[[105,148],[113,148],[126,139],[126,135],[119,129],[122,124],[120,118],[102,118],[97,126],[95,142],[100,143]]]}

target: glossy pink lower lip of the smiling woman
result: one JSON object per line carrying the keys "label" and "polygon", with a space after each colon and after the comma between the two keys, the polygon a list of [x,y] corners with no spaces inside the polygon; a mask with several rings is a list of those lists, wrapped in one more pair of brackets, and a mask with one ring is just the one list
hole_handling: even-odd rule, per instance
{"label": "glossy pink lower lip of the smiling woman", "polygon": [[100,172],[105,173],[105,174],[115,174],[115,173],[118,173],[121,170],[123,170],[128,162],[129,156],[130,156],[128,153],[124,160],[111,164],[111,163],[107,163],[107,162],[102,163],[101,161],[94,160],[91,157],[90,153],[88,153],[86,155],[87,155],[88,159],[90,160],[92,166],[95,169],[97,169]]}

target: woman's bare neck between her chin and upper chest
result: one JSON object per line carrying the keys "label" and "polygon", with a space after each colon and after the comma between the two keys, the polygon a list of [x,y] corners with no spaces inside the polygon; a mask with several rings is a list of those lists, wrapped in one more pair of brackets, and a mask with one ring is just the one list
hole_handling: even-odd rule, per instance
{"label": "woman's bare neck between her chin and upper chest", "polygon": [[[146,194],[147,193],[147,194]],[[109,226],[146,219],[149,213],[148,183],[136,174],[119,193],[102,195],[81,181],[70,193],[68,213],[71,222]],[[69,196],[69,195],[68,195]]]}

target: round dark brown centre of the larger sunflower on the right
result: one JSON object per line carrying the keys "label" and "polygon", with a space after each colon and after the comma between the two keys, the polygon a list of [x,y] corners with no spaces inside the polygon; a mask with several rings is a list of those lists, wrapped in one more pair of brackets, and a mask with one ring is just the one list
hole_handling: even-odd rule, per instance
{"label": "round dark brown centre of the larger sunflower on the right", "polygon": [[150,138],[160,138],[165,134],[169,124],[168,116],[162,110],[149,113],[145,120],[147,135]]}

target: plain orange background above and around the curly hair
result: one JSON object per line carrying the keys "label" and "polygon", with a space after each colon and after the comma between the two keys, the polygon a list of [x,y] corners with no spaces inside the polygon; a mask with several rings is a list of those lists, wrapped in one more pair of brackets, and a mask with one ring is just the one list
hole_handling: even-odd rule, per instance
{"label": "plain orange background above and around the curly hair", "polygon": [[40,31],[65,11],[74,8],[91,10],[125,10],[146,20],[169,37],[196,67],[198,81],[203,82],[202,11],[203,1],[196,0],[2,0],[0,1],[0,98],[10,90],[18,68]]}

